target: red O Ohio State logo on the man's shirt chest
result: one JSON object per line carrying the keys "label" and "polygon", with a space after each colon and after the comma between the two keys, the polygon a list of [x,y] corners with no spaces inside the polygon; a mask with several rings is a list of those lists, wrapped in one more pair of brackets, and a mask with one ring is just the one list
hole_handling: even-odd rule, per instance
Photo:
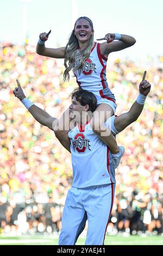
{"label": "red O Ohio State logo on the man's shirt chest", "polygon": [[90,140],[85,139],[83,133],[78,133],[72,141],[73,150],[77,150],[78,153],[84,153],[86,149],[91,150]]}

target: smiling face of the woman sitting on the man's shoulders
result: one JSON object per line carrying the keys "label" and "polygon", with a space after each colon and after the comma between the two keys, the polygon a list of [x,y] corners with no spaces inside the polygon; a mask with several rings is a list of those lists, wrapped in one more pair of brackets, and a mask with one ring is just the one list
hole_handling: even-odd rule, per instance
{"label": "smiling face of the woman sitting on the man's shoulders", "polygon": [[74,28],[74,35],[76,35],[78,41],[89,41],[92,34],[93,32],[89,21],[85,19],[77,21]]}

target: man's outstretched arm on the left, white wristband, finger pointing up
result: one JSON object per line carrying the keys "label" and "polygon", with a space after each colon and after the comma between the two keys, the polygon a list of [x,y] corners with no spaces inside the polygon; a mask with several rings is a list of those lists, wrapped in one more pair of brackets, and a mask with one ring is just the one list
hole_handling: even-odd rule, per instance
{"label": "man's outstretched arm on the left, white wristband, finger pointing up", "polygon": [[[30,114],[33,115],[36,121],[38,121],[41,125],[47,126],[49,129],[54,131],[54,127],[58,123],[58,119],[51,117],[51,115],[49,115],[46,111],[43,111],[41,108],[34,105],[34,103],[30,102],[26,98],[18,80],[16,80],[16,82],[17,82],[17,87],[13,90],[14,95],[18,99],[20,99],[20,101],[23,103],[24,106],[26,106],[26,108],[28,109]],[[70,138],[68,138],[68,135],[65,134],[62,137],[60,143],[64,146],[64,148],[66,148],[71,153]]]}

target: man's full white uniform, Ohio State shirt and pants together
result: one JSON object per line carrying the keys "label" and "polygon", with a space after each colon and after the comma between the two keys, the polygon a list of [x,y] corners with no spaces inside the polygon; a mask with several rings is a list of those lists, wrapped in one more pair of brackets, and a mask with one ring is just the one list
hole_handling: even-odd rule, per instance
{"label": "man's full white uniform, Ohio State shirt and pants together", "polygon": [[71,140],[72,188],[62,214],[59,245],[75,245],[86,220],[85,245],[103,245],[115,193],[115,169],[109,148],[90,124],[76,126]]}

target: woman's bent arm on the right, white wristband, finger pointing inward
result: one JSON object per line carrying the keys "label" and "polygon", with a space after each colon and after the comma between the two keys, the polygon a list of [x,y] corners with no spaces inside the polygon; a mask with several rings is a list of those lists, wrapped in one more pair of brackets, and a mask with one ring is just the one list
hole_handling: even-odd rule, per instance
{"label": "woman's bent arm on the right, white wristband, finger pointing inward", "polygon": [[117,33],[108,33],[103,38],[97,40],[106,40],[106,42],[100,44],[100,51],[105,57],[108,57],[111,52],[123,50],[134,45],[136,42],[133,36]]}

